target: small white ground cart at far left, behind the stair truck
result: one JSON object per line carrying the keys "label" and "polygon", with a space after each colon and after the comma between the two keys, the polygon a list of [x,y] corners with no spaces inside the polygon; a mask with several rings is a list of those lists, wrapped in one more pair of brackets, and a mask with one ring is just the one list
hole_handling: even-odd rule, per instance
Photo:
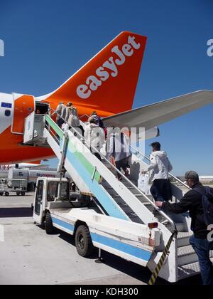
{"label": "small white ground cart at far left, behind the stair truck", "polygon": [[9,196],[10,193],[25,196],[28,182],[26,179],[0,179],[0,195]]}

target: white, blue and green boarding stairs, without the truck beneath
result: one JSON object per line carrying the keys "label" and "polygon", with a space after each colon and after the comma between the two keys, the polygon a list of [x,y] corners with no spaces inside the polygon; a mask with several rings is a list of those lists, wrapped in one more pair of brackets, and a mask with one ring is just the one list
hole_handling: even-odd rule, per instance
{"label": "white, blue and green boarding stairs, without the truck beneath", "polygon": [[[31,117],[33,120],[33,117]],[[70,174],[73,182],[81,194],[91,196],[97,202],[102,213],[126,221],[133,221],[138,224],[150,224],[158,222],[158,228],[162,232],[161,246],[148,263],[153,271],[162,256],[165,244],[168,243],[171,234],[177,229],[178,238],[173,241],[170,247],[170,255],[160,271],[160,277],[176,282],[182,278],[199,273],[197,256],[190,246],[190,217],[188,214],[166,215],[163,211],[156,209],[151,195],[144,194],[137,187],[138,174],[125,177],[111,162],[101,154],[102,161],[90,151],[87,141],[75,129],[63,132],[49,115],[43,115],[43,130],[36,130],[35,145],[51,147],[59,159],[58,171],[61,174],[64,169]],[[82,123],[82,125],[84,125]],[[27,134],[27,132],[26,132]],[[26,135],[25,134],[25,135]],[[34,144],[34,136],[24,136],[24,144]],[[92,148],[93,152],[97,151]],[[148,164],[144,162],[141,152],[131,147],[133,153],[133,167],[139,165],[139,169],[146,169]],[[121,176],[119,181],[116,176]],[[177,184],[173,185],[174,201],[181,198],[182,187],[187,187],[173,177]]]}

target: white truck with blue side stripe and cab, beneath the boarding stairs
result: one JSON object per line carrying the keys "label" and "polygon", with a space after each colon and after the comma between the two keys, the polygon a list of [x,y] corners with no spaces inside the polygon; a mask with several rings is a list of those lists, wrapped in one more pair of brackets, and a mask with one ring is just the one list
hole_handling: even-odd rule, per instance
{"label": "white truck with blue side stripe and cab, beneath the boarding stairs", "polygon": [[[153,248],[160,245],[158,228],[151,229],[151,225],[148,227],[105,216],[92,196],[84,196],[84,201],[74,201],[70,198],[70,182],[67,179],[38,179],[33,217],[37,224],[45,223],[47,234],[52,234],[56,227],[75,235],[77,252],[84,257],[98,247],[129,261],[138,260],[139,264],[146,266]],[[124,246],[126,248],[123,250]],[[133,251],[136,251],[135,256],[132,255]],[[143,258],[139,260],[137,255]]]}

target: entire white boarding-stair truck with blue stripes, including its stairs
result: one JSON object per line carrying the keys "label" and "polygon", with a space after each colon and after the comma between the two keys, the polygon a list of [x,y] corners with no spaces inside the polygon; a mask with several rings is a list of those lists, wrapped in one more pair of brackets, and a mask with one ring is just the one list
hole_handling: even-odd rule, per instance
{"label": "entire white boarding-stair truck with blue stripes, including its stairs", "polygon": [[[126,178],[103,155],[102,161],[97,159],[85,146],[86,141],[82,142],[82,137],[71,131],[62,132],[48,115],[40,117],[43,130],[37,131],[35,145],[40,140],[40,144],[53,149],[60,160],[58,172],[62,174],[66,169],[80,193],[89,196],[92,204],[88,200],[84,207],[75,206],[72,201],[65,201],[60,192],[53,201],[48,201],[47,188],[44,187],[48,179],[40,179],[34,206],[36,223],[45,223],[48,233],[55,226],[74,234],[77,251],[82,256],[87,256],[95,246],[147,266],[151,271],[158,264],[170,236],[178,230],[160,277],[176,282],[199,273],[197,255],[189,243],[192,234],[189,214],[164,214],[155,208],[151,196],[136,187],[138,173],[148,167],[141,152],[131,147],[133,164],[131,176]],[[26,144],[28,142],[33,145],[33,136]],[[116,179],[111,168],[119,172],[122,182]],[[184,183],[178,182],[187,190]],[[182,189],[173,185],[173,200],[178,201],[182,194]],[[152,229],[156,222],[158,228]]]}

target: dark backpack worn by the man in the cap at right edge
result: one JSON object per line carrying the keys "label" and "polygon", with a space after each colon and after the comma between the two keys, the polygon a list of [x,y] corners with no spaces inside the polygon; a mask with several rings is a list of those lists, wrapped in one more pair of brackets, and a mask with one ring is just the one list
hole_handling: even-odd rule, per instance
{"label": "dark backpack worn by the man in the cap at right edge", "polygon": [[202,206],[204,209],[204,223],[209,226],[210,224],[213,224],[213,195],[211,193],[210,187],[205,187],[205,193],[201,191],[200,188],[193,189],[196,192],[198,192],[200,195],[202,195]]}

